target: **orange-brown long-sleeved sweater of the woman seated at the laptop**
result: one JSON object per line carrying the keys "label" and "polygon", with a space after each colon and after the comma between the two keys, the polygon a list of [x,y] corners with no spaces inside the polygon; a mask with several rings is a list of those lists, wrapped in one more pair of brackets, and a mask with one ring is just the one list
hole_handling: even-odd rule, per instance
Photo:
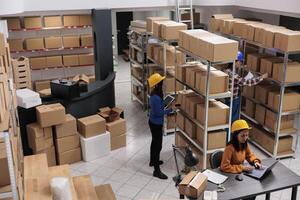
{"label": "orange-brown long-sleeved sweater of the woman seated at the laptop", "polygon": [[250,164],[253,164],[254,161],[260,162],[260,159],[251,152],[249,145],[245,150],[236,151],[233,145],[229,144],[225,148],[220,169],[228,173],[241,173],[244,170],[245,160]]}

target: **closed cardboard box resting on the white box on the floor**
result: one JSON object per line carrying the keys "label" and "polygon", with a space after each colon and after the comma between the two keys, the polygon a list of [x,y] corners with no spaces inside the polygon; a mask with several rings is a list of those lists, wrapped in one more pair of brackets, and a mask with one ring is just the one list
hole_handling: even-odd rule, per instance
{"label": "closed cardboard box resting on the white box on the floor", "polygon": [[78,132],[85,138],[100,135],[106,132],[105,119],[99,115],[80,118],[77,121]]}

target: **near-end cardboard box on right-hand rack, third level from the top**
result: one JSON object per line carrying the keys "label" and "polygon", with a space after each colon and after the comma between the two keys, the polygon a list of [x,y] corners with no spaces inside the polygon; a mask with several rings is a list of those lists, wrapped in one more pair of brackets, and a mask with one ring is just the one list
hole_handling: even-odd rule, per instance
{"label": "near-end cardboard box on right-hand rack, third level from the top", "polygon": [[[271,91],[268,95],[268,106],[278,111],[280,93],[279,91]],[[282,111],[294,111],[300,108],[300,94],[296,92],[285,92],[283,95]]]}

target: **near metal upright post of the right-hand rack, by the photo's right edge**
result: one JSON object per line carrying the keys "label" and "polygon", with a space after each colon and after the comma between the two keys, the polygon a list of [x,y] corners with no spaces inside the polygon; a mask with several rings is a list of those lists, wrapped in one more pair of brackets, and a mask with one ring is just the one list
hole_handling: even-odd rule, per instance
{"label": "near metal upright post of the right-hand rack, by the photo's right edge", "polygon": [[[283,73],[282,73],[282,79],[281,79],[282,83],[285,83],[288,59],[289,59],[289,53],[285,52],[284,53]],[[276,132],[275,132],[275,143],[274,143],[275,145],[274,145],[274,150],[273,150],[273,157],[275,157],[275,158],[277,157],[277,151],[278,151],[284,91],[285,91],[285,85],[280,84],[279,108],[278,108],[277,118],[276,118],[277,124],[276,124]]]}

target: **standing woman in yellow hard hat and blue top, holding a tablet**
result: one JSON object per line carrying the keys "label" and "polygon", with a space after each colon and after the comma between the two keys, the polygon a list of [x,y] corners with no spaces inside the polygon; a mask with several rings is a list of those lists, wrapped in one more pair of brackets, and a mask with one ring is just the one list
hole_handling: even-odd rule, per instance
{"label": "standing woman in yellow hard hat and blue top, holding a tablet", "polygon": [[151,147],[150,147],[150,166],[154,166],[153,176],[160,179],[168,179],[168,177],[160,171],[159,165],[163,164],[163,161],[159,160],[160,152],[162,149],[163,139],[163,124],[164,115],[172,112],[172,109],[165,109],[163,101],[163,80],[165,76],[161,76],[158,73],[149,77],[148,83],[150,89],[150,116],[149,126],[152,135]]}

